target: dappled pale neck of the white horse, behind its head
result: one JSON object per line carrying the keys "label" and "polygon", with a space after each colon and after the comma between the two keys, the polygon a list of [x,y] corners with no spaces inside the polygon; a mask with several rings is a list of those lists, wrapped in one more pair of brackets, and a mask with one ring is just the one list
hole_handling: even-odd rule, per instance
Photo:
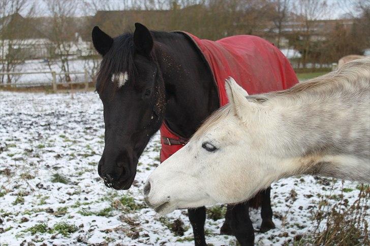
{"label": "dappled pale neck of the white horse, behind its head", "polygon": [[266,151],[279,163],[281,176],[314,174],[366,181],[361,172],[368,168],[370,144],[369,132],[363,129],[370,116],[359,109],[368,108],[369,102],[356,95],[368,91],[368,85],[346,94],[345,83],[280,95],[268,102],[269,118],[260,125],[270,125]]}

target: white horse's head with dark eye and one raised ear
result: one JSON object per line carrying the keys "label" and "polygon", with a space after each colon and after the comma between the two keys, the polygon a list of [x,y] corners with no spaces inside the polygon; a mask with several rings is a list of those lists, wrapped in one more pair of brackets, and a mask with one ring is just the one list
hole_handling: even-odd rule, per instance
{"label": "white horse's head with dark eye and one raised ear", "polygon": [[232,78],[225,86],[230,103],[210,116],[146,181],[145,201],[156,212],[239,202],[270,184],[273,159],[257,153],[263,149],[263,128],[269,127],[260,127],[267,109],[248,100],[248,93]]}

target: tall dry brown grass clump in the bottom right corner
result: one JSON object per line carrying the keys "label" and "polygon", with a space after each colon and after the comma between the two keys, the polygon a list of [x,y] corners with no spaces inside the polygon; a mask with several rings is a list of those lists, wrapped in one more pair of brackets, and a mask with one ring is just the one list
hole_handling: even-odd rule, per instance
{"label": "tall dry brown grass clump in the bottom right corner", "polygon": [[353,204],[349,204],[347,199],[343,199],[343,192],[349,191],[342,185],[342,194],[337,196],[339,199],[332,206],[328,205],[327,199],[330,197],[322,197],[313,217],[313,233],[304,236],[297,235],[299,238],[294,238],[294,245],[370,244],[369,225],[366,220],[370,202],[370,188],[361,185],[358,197]]}

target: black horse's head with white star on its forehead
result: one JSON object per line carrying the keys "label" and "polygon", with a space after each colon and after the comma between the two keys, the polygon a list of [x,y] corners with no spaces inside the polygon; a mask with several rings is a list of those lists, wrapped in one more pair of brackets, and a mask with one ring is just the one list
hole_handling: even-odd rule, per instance
{"label": "black horse's head with white star on its forehead", "polygon": [[163,121],[165,92],[153,38],[142,24],[111,38],[94,27],[93,43],[103,56],[97,91],[103,102],[105,146],[98,172],[105,185],[129,189],[138,159]]}

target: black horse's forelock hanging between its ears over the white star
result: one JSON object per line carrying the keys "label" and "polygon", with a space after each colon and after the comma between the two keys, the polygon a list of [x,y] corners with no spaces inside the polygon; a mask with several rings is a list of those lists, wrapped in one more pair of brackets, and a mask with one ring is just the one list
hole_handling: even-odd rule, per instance
{"label": "black horse's forelock hanging between its ears over the white star", "polygon": [[[119,89],[129,79],[135,83],[134,55],[133,33],[127,32],[114,38],[111,49],[104,55],[100,64],[97,74],[97,91],[102,92],[107,83],[113,83],[115,90]],[[119,79],[119,75],[125,75],[125,80]]]}

